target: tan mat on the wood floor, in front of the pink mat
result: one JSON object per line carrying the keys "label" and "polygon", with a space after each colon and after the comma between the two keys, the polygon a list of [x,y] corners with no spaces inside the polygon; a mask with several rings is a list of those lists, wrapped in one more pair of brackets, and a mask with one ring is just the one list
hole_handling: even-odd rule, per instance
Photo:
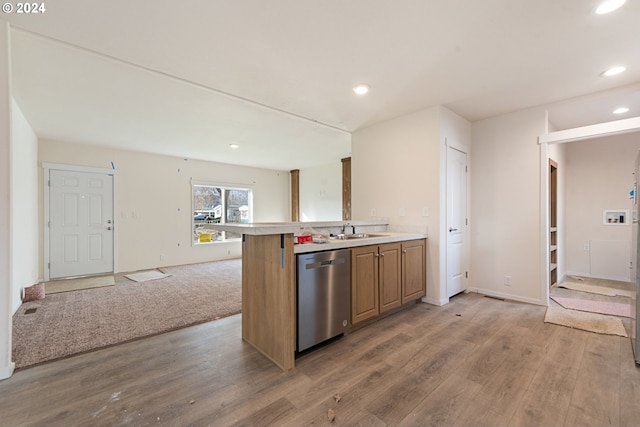
{"label": "tan mat on the wood floor, in front of the pink mat", "polygon": [[598,334],[628,336],[620,319],[602,314],[547,307],[544,321]]}

